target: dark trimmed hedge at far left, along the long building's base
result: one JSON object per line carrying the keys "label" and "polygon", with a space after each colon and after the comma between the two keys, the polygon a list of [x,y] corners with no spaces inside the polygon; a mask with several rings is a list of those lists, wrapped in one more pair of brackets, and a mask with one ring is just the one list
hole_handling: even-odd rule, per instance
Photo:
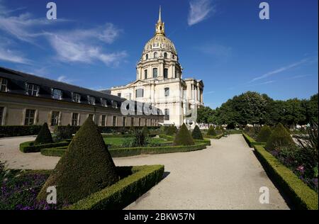
{"label": "dark trimmed hedge at far left, along the long building's base", "polygon": [[38,135],[41,125],[10,125],[1,126],[0,125],[0,138],[4,137],[14,137],[14,136],[25,136],[25,135]]}

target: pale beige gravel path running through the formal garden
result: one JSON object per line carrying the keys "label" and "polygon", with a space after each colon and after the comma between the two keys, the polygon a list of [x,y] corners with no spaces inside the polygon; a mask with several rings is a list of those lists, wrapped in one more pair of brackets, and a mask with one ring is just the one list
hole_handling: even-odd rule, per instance
{"label": "pale beige gravel path running through the formal garden", "polygon": [[[24,154],[21,142],[0,139],[0,160],[9,168],[53,169],[59,157]],[[212,140],[196,152],[114,158],[118,166],[164,164],[165,177],[125,209],[289,209],[242,135]],[[259,203],[259,188],[269,188],[270,203]]]}

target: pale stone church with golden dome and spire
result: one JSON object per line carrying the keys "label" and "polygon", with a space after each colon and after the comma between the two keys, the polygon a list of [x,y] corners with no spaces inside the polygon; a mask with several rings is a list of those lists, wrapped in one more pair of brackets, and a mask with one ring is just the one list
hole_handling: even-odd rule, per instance
{"label": "pale stone church with golden dome and spire", "polygon": [[[186,111],[203,105],[203,81],[182,79],[177,50],[164,33],[159,9],[155,36],[145,45],[136,67],[136,80],[114,86],[111,94],[156,106],[164,113],[164,125],[188,123]],[[194,123],[191,123],[194,126]]]}

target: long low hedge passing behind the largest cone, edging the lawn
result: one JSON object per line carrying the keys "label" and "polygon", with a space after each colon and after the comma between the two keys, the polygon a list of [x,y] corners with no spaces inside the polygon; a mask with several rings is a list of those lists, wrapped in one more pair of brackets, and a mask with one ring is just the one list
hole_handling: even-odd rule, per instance
{"label": "long low hedge passing behind the largest cone, edging the lawn", "polygon": [[[177,145],[177,146],[160,146],[160,147],[121,147],[111,148],[108,151],[112,157],[130,157],[141,154],[162,154],[171,152],[191,152],[196,150],[203,150],[206,148],[207,143],[196,143],[196,145]],[[52,147],[41,150],[42,155],[61,157],[67,148]]]}

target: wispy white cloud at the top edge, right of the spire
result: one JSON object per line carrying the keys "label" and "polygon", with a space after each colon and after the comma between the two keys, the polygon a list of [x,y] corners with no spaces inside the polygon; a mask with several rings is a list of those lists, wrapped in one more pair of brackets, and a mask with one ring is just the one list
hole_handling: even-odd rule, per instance
{"label": "wispy white cloud at the top edge, right of the spire", "polygon": [[214,12],[215,9],[211,5],[211,0],[191,0],[189,2],[189,26],[205,20]]}

